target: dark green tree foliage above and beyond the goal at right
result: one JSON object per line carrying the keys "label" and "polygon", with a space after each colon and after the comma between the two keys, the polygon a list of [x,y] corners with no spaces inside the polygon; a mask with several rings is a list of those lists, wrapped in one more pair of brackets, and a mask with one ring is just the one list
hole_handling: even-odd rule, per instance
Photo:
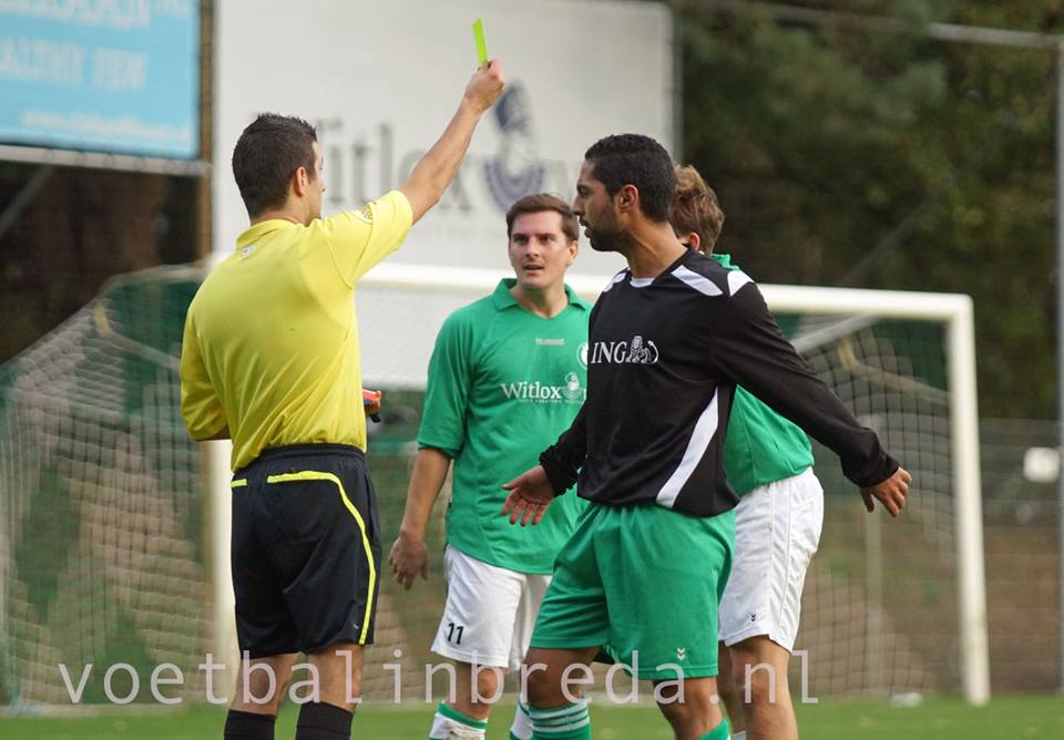
{"label": "dark green tree foliage above and beyond the goal at right", "polygon": [[1064,3],[800,3],[911,33],[672,4],[682,156],[718,191],[719,250],[766,282],[969,294],[981,412],[1054,417],[1054,55],[919,31],[1055,32]]}

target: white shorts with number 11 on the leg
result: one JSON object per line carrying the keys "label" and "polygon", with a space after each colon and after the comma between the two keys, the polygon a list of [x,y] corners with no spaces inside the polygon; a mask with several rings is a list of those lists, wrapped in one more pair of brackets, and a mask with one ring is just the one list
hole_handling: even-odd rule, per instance
{"label": "white shorts with number 11 on the leg", "polygon": [[447,605],[432,651],[516,670],[529,650],[551,576],[489,565],[450,545],[443,552],[443,573]]}

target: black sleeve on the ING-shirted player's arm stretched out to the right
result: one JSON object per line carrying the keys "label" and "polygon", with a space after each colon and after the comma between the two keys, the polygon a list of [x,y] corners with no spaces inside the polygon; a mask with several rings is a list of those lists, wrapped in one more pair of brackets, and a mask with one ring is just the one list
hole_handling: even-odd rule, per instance
{"label": "black sleeve on the ING-shirted player's arm stretched out to the right", "polygon": [[707,325],[720,372],[839,455],[857,485],[876,485],[898,470],[876,433],[861,426],[784,338],[756,285],[739,288],[722,308]]}

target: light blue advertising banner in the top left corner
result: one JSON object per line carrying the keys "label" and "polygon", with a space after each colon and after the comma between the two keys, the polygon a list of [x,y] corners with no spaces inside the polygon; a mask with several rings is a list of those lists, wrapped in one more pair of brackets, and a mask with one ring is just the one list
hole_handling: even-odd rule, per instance
{"label": "light blue advertising banner in the top left corner", "polygon": [[191,158],[197,0],[0,0],[0,143]]}

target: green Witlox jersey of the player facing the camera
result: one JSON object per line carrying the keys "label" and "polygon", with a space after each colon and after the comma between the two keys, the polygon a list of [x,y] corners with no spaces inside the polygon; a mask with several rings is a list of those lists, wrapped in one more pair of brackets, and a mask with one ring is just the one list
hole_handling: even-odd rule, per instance
{"label": "green Witlox jersey of the player facing the camera", "polygon": [[418,445],[454,460],[447,541],[480,561],[548,574],[586,502],[559,496],[536,526],[499,515],[502,484],[538,462],[569,429],[587,394],[591,307],[569,287],[552,319],[522,308],[513,279],[443,322],[429,362]]}

